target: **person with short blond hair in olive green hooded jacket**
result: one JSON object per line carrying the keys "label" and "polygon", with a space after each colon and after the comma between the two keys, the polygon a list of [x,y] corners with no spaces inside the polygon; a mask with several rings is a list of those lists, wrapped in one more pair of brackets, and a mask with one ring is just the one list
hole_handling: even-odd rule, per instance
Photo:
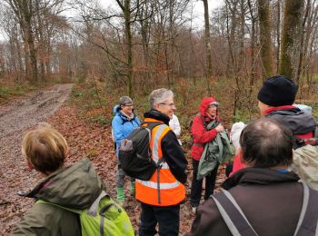
{"label": "person with short blond hair in olive green hooded jacket", "polygon": [[[45,179],[25,197],[57,205],[85,209],[105,190],[88,159],[65,167],[68,146],[61,133],[42,126],[25,135],[22,152],[30,170]],[[12,235],[81,235],[77,214],[52,204],[35,203],[15,227]]]}

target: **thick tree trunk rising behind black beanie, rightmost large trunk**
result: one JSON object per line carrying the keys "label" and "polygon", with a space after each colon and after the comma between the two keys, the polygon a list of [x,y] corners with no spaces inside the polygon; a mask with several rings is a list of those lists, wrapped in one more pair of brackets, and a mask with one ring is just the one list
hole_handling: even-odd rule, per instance
{"label": "thick tree trunk rising behind black beanie, rightmost large trunk", "polygon": [[[300,39],[303,0],[285,0],[283,11],[283,33],[279,74],[295,79],[297,53],[300,53]],[[299,48],[297,48],[297,46]]]}

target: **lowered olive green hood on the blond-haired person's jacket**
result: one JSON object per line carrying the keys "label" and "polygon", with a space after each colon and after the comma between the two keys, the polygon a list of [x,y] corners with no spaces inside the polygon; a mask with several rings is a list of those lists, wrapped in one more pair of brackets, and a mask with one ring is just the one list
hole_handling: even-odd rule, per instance
{"label": "lowered olive green hood on the blond-haired person's jacket", "polygon": [[89,207],[104,190],[104,183],[88,159],[53,172],[25,197],[75,209]]}

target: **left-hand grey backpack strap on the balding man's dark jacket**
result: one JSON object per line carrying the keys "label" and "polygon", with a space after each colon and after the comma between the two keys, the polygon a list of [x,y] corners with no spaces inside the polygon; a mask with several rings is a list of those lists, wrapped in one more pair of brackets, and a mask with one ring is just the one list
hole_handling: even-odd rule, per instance
{"label": "left-hand grey backpack strap on the balding man's dark jacket", "polygon": [[234,236],[258,235],[230,192],[223,190],[223,192],[211,195],[211,197]]}

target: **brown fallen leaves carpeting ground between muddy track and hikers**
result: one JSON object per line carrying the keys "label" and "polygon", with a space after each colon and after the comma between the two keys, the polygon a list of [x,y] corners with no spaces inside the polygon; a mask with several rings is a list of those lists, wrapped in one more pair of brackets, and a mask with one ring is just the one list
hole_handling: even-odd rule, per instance
{"label": "brown fallen leaves carpeting ground between muddy track and hikers", "polygon": [[[116,157],[114,152],[114,143],[111,138],[109,126],[101,127],[100,124],[88,124],[80,121],[76,115],[75,107],[62,107],[58,113],[48,120],[66,137],[71,147],[70,158],[68,162],[75,162],[87,155],[87,153],[96,152],[92,157],[92,162],[98,174],[106,183],[107,189],[115,199],[115,173],[117,170]],[[187,151],[188,152],[188,151]],[[189,156],[189,155],[187,155]],[[189,202],[190,185],[192,180],[192,162],[188,157],[188,182],[186,183],[187,200],[181,206],[180,214],[180,234],[191,230],[194,221],[194,213],[191,210]],[[224,182],[224,165],[219,167],[219,174],[216,181],[216,191],[220,190],[220,185]],[[125,209],[133,223],[134,230],[138,231],[140,206],[134,200],[130,193],[129,178],[125,180]]]}

